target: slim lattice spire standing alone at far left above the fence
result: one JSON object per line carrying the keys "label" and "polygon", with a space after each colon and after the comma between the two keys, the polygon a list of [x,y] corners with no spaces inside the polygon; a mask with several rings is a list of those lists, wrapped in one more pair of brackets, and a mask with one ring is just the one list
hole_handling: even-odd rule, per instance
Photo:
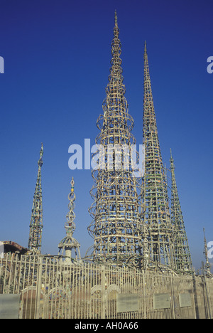
{"label": "slim lattice spire standing alone at far left above the fence", "polygon": [[43,229],[43,207],[41,189],[41,167],[43,166],[43,144],[40,149],[40,159],[38,160],[38,176],[33,197],[33,208],[31,214],[30,235],[28,248],[35,254],[40,253],[41,237]]}

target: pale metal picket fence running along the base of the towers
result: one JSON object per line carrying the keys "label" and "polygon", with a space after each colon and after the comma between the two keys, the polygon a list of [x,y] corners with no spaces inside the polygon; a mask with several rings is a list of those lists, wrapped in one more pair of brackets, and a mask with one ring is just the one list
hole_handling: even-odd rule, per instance
{"label": "pale metal picket fence running along the base of the towers", "polygon": [[22,319],[212,318],[213,310],[213,280],[204,276],[32,255],[0,259],[0,317],[6,295],[20,295]]}

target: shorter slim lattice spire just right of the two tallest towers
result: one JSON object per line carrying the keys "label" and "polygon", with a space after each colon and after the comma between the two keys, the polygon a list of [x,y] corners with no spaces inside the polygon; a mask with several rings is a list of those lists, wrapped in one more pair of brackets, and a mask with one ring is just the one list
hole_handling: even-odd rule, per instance
{"label": "shorter slim lattice spire just right of the two tallest towers", "polygon": [[185,231],[182,211],[180,207],[180,199],[178,196],[178,189],[175,179],[175,165],[174,159],[170,156],[170,171],[171,171],[171,221],[175,226],[175,262],[177,269],[183,273],[192,273],[192,259],[190,255],[190,248]]}

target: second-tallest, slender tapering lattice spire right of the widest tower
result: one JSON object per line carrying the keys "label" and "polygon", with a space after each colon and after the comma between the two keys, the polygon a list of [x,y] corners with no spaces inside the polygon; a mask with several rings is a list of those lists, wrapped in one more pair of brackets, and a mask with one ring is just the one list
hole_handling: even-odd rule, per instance
{"label": "second-tallest, slender tapering lattice spire right of the widest tower", "polygon": [[170,221],[168,191],[158,139],[146,43],[143,88],[143,144],[145,145],[145,172],[142,184],[143,254],[150,261],[150,265],[175,268],[173,226]]}

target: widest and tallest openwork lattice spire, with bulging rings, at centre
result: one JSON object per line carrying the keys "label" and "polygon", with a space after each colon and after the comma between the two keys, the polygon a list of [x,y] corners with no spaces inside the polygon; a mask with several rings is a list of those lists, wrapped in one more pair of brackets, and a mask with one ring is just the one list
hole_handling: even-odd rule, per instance
{"label": "widest and tallest openwork lattice spire, with bulging rings, at centre", "polygon": [[[131,261],[138,264],[141,256],[139,179],[133,176],[133,164],[129,163],[131,144],[136,140],[131,134],[133,119],[124,97],[126,89],[116,12],[111,56],[107,97],[103,102],[104,115],[97,120],[100,133],[96,143],[101,144],[104,153],[99,151],[99,169],[92,171],[94,203],[89,212],[94,221],[88,230],[94,238],[92,258],[95,262],[123,265]],[[114,149],[112,154],[111,149]],[[111,156],[110,161],[107,155]]]}

